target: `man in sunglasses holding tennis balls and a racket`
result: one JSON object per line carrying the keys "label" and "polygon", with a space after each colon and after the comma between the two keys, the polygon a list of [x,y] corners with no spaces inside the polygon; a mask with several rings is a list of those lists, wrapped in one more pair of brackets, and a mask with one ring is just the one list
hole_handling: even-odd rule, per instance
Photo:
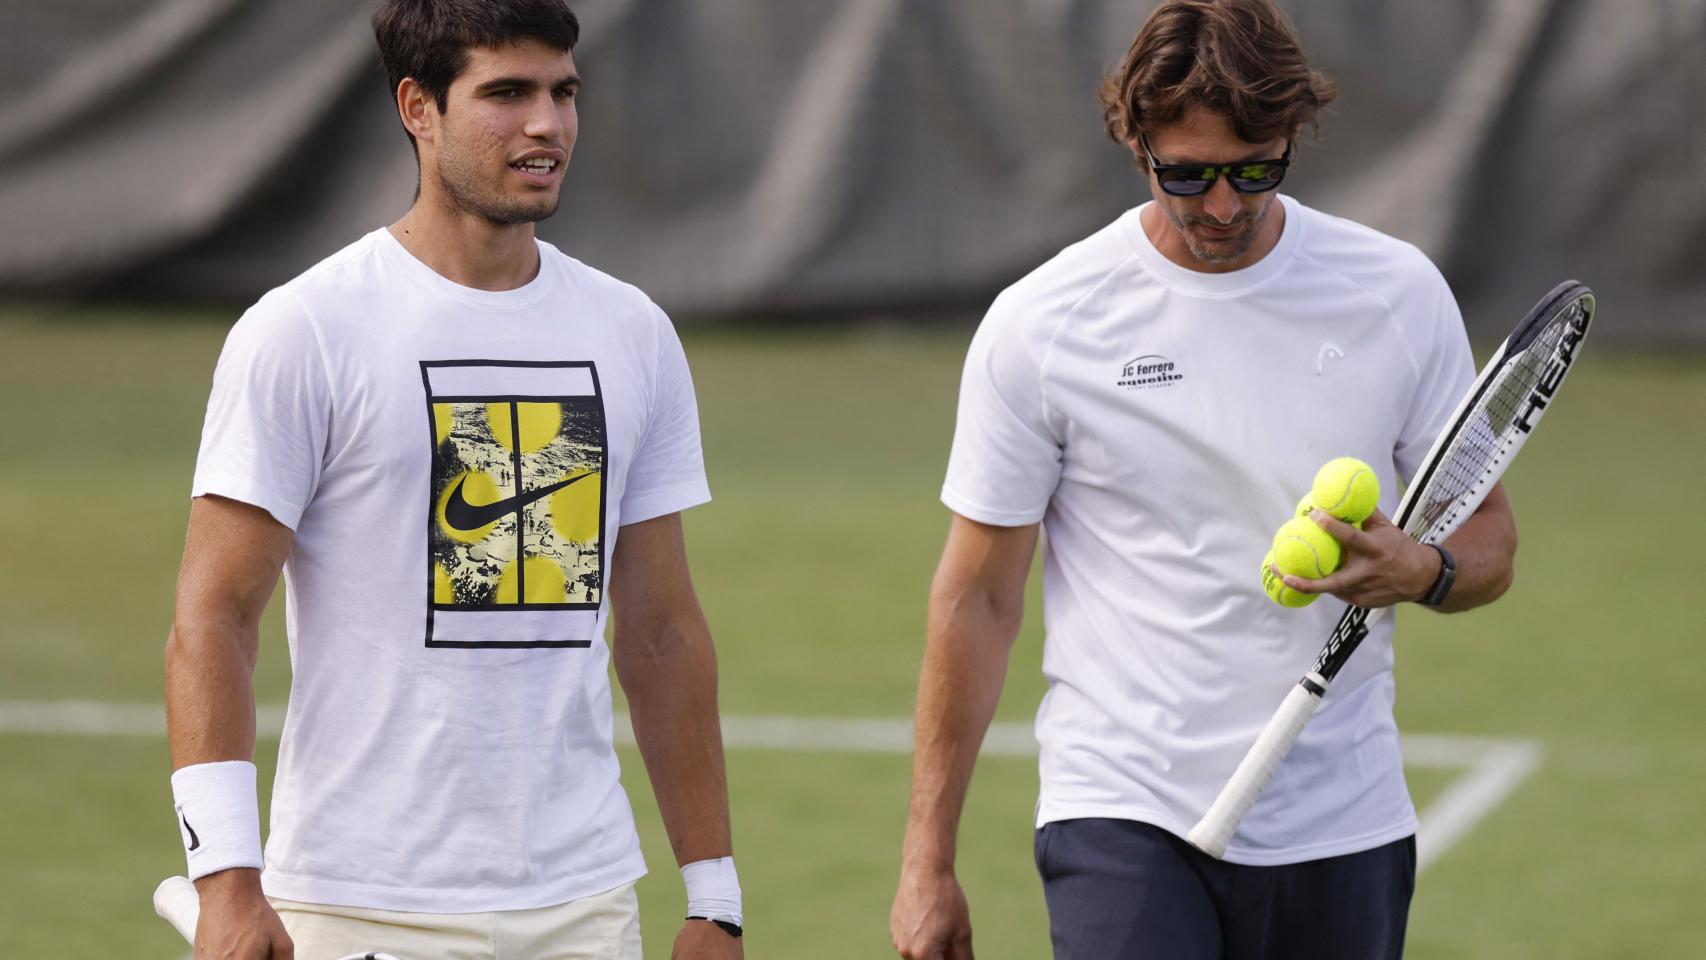
{"label": "man in sunglasses holding tennis balls and a racket", "polygon": [[1474,368],[1419,251],[1274,191],[1331,97],[1269,0],[1162,3],[1102,92],[1109,133],[1155,200],[1003,292],[972,341],[891,917],[902,957],[972,955],[955,829],[1039,523],[1036,858],[1056,957],[1402,953],[1416,815],[1390,617],[1225,861],[1182,839],[1341,609],[1281,609],[1257,576],[1322,462],[1372,464],[1384,512],[1363,530],[1315,512],[1344,566],[1290,585],[1462,610],[1512,578],[1501,489],[1445,551],[1387,520]]}

